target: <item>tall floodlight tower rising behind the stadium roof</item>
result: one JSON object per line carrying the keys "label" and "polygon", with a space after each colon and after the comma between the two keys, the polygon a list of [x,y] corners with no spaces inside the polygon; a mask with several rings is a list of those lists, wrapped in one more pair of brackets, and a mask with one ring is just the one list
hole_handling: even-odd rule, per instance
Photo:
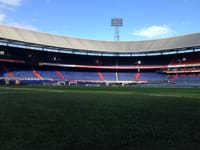
{"label": "tall floodlight tower rising behind the stadium roof", "polygon": [[111,26],[115,27],[115,36],[114,40],[119,41],[120,35],[119,35],[119,27],[123,26],[123,19],[122,18],[112,18],[111,19]]}

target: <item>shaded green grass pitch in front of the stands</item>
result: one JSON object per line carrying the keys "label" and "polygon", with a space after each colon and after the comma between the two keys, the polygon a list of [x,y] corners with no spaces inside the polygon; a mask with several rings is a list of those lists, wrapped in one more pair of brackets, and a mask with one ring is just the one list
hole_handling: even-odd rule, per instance
{"label": "shaded green grass pitch in front of the stands", "polygon": [[200,89],[0,86],[1,150],[199,150]]}

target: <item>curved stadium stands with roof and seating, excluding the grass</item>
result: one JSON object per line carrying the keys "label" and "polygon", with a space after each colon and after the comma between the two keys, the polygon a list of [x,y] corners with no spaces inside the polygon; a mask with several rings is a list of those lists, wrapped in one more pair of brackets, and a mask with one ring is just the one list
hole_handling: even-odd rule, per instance
{"label": "curved stadium stands with roof and seating, excluding the grass", "polygon": [[0,25],[2,84],[200,85],[200,33],[96,41]]}

